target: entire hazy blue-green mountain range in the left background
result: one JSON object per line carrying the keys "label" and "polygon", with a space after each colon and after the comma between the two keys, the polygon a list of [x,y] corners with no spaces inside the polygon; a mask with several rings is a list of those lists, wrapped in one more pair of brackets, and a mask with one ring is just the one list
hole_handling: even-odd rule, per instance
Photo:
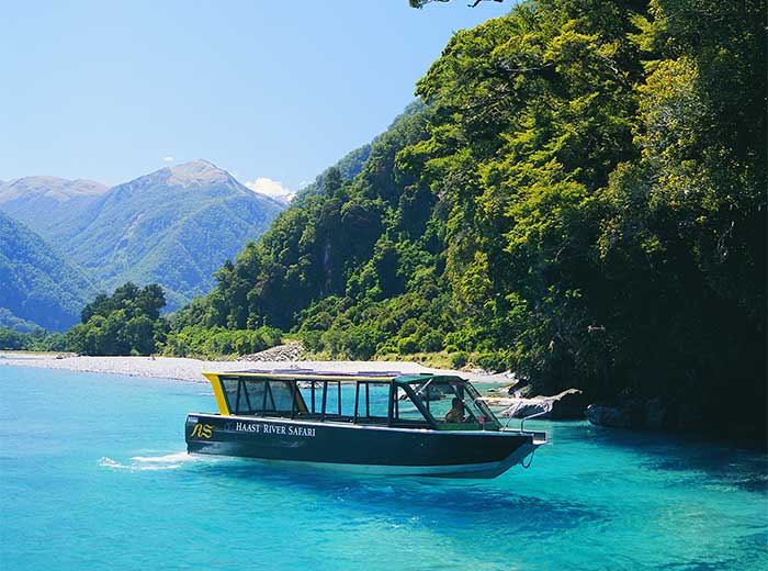
{"label": "entire hazy blue-green mountain range in the left background", "polygon": [[[19,257],[22,244],[34,244],[33,250],[57,256],[65,275],[79,275],[92,284],[79,288],[79,296],[65,296],[67,307],[77,307],[74,315],[94,292],[111,291],[125,281],[161,284],[167,309],[174,310],[210,291],[213,272],[258,238],[283,209],[281,202],[253,192],[202,159],[112,188],[56,177],[0,182],[7,233],[11,226],[23,228],[14,229],[16,238],[0,244],[4,260],[0,283],[18,283],[20,292],[32,296],[39,283],[60,283],[60,272],[49,273],[55,266],[50,260],[37,267],[37,258]],[[21,279],[31,268],[48,280]],[[34,309],[22,310],[4,298],[1,309],[46,328],[74,323],[56,312],[59,317],[53,318]]]}

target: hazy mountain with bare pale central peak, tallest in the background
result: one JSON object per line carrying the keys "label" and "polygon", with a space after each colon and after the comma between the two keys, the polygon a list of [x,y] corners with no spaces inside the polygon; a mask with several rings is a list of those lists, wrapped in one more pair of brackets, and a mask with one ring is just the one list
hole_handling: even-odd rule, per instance
{"label": "hazy mountain with bare pale central peak, tallest in the background", "polygon": [[54,237],[100,289],[157,282],[172,310],[207,293],[213,272],[283,208],[201,159],[109,189]]}

